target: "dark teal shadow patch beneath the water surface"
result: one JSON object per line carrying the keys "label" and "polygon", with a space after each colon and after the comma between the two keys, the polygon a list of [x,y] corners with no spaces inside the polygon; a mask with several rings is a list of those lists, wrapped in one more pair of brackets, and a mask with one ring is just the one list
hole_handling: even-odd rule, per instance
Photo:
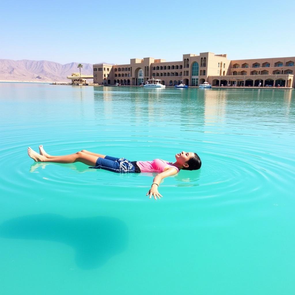
{"label": "dark teal shadow patch beneath the water surface", "polygon": [[66,218],[36,214],[3,222],[0,237],[64,243],[76,250],[78,267],[94,269],[127,247],[128,228],[113,217]]}

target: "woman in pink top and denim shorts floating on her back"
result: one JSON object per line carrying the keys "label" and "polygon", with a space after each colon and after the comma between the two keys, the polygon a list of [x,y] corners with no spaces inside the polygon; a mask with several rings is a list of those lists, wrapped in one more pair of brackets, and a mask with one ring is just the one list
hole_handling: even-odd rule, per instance
{"label": "woman in pink top and denim shorts floating on her back", "polygon": [[175,155],[176,162],[168,162],[161,159],[153,161],[129,161],[125,158],[114,158],[107,155],[101,155],[81,150],[77,153],[65,156],[52,156],[45,152],[42,145],[39,146],[39,152],[35,152],[32,148],[28,148],[28,155],[35,162],[51,162],[51,163],[75,163],[81,162],[96,169],[104,169],[117,173],[159,173],[155,176],[150,190],[146,194],[153,196],[155,200],[162,195],[158,191],[158,187],[163,178],[177,174],[183,170],[198,170],[201,168],[201,159],[196,153],[184,152]]}

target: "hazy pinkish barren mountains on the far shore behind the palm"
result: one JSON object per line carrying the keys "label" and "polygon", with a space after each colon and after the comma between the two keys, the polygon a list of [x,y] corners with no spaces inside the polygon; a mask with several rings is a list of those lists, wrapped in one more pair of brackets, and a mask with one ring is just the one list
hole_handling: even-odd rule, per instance
{"label": "hazy pinkish barren mountains on the far shore behind the palm", "polygon": [[[93,74],[92,64],[82,63],[81,74]],[[0,59],[0,81],[70,82],[71,73],[79,72],[78,63],[62,65],[47,60]]]}

